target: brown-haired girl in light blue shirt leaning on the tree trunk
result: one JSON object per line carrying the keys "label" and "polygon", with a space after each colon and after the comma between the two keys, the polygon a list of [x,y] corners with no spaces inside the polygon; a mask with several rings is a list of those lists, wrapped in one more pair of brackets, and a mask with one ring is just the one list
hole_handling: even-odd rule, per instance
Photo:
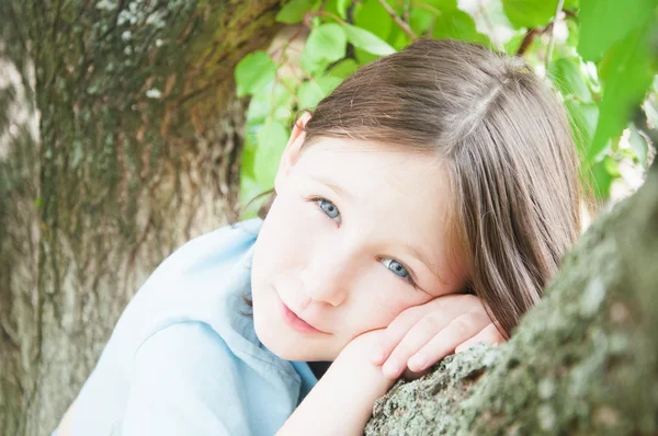
{"label": "brown-haired girl in light blue shirt leaning on the tree trunk", "polygon": [[362,434],[402,371],[509,335],[579,230],[556,99],[521,59],[450,41],[300,117],[274,191],[264,220],[158,267],[58,435]]}

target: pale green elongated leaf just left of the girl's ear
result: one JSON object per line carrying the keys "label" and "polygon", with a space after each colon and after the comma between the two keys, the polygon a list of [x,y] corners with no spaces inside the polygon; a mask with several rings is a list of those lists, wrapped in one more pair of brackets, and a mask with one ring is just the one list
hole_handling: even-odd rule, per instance
{"label": "pale green elongated leaf just left of the girl's ear", "polygon": [[272,119],[258,131],[253,170],[256,180],[263,190],[274,186],[279,160],[287,144],[288,135],[288,129],[283,124]]}

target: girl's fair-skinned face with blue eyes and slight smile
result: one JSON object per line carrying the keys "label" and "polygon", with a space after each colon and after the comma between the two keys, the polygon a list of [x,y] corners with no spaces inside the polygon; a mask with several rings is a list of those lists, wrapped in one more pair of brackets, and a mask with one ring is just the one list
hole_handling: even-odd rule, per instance
{"label": "girl's fair-skinned face with blue eyes and slight smile", "polygon": [[436,158],[334,138],[300,152],[304,135],[293,130],[256,243],[253,320],[277,356],[333,360],[352,339],[465,279]]}

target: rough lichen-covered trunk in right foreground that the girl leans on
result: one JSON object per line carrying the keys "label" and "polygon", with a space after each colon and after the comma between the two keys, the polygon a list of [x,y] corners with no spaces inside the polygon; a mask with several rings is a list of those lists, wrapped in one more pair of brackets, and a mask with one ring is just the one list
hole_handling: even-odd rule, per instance
{"label": "rough lichen-covered trunk in right foreground that the girl leans on", "polygon": [[658,434],[658,168],[566,256],[512,340],[445,358],[367,435]]}

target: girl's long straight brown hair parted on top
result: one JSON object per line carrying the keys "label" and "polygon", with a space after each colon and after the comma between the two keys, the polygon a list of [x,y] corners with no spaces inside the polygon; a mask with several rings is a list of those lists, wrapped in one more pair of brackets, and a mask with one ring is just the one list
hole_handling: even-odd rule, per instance
{"label": "girl's long straight brown hair parted on top", "polygon": [[354,138],[447,162],[467,290],[504,334],[540,300],[579,234],[582,194],[565,111],[519,57],[419,41],[349,77],[305,131],[305,147]]}

